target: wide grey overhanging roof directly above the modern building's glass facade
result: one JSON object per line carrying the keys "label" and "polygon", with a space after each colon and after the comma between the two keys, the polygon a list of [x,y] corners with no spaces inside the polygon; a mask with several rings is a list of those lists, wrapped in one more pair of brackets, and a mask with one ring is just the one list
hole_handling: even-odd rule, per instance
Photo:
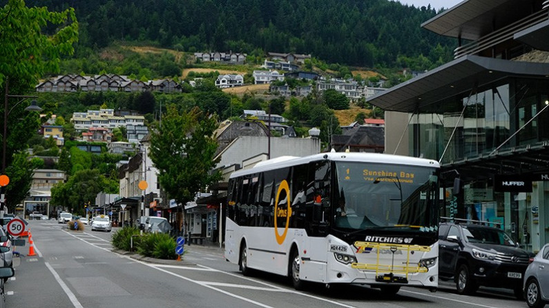
{"label": "wide grey overhanging roof directly above the modern building's glass facade", "polygon": [[548,76],[549,63],[508,61],[467,55],[371,96],[383,110],[415,112],[472,88],[508,76]]}

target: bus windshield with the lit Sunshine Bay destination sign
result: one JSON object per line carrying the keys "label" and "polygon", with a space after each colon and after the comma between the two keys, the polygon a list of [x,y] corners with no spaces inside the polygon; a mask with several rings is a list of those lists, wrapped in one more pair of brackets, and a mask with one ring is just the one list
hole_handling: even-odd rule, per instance
{"label": "bus windshield with the lit Sunshine Bay destination sign", "polygon": [[335,227],[436,229],[436,168],[337,162],[336,173]]}

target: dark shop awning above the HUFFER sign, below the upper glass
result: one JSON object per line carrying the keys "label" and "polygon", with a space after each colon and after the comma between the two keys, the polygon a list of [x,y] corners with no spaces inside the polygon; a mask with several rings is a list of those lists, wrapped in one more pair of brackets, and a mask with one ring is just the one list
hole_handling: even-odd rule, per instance
{"label": "dark shop awning above the HUFFER sign, below the upper glass", "polygon": [[484,154],[461,161],[441,163],[447,181],[453,181],[455,170],[463,181],[480,181],[493,178],[496,174],[528,174],[532,181],[549,176],[549,141],[533,145],[512,147],[494,154]]}

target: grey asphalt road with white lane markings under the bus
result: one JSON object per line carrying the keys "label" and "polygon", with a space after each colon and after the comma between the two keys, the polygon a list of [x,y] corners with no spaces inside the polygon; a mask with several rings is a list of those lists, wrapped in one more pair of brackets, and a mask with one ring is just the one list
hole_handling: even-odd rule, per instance
{"label": "grey asphalt road with white lane markings under the bus", "polygon": [[[509,291],[459,296],[449,283],[436,293],[404,287],[391,297],[354,285],[295,291],[284,277],[242,276],[215,247],[186,246],[180,263],[149,263],[113,252],[112,233],[29,223],[37,256],[16,266],[6,283],[7,307],[527,307]],[[28,246],[17,251],[27,254]]]}

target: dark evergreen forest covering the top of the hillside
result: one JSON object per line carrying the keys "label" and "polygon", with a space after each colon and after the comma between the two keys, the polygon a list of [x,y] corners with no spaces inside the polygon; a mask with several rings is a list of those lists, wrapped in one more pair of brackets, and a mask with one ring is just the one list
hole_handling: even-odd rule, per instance
{"label": "dark evergreen forest covering the top of the hillside", "polygon": [[75,8],[79,21],[77,58],[109,45],[137,43],[184,52],[296,52],[327,63],[394,68],[406,64],[399,63],[403,57],[445,63],[456,47],[456,41],[420,27],[437,14],[436,10],[388,0],[26,3],[53,11]]}

